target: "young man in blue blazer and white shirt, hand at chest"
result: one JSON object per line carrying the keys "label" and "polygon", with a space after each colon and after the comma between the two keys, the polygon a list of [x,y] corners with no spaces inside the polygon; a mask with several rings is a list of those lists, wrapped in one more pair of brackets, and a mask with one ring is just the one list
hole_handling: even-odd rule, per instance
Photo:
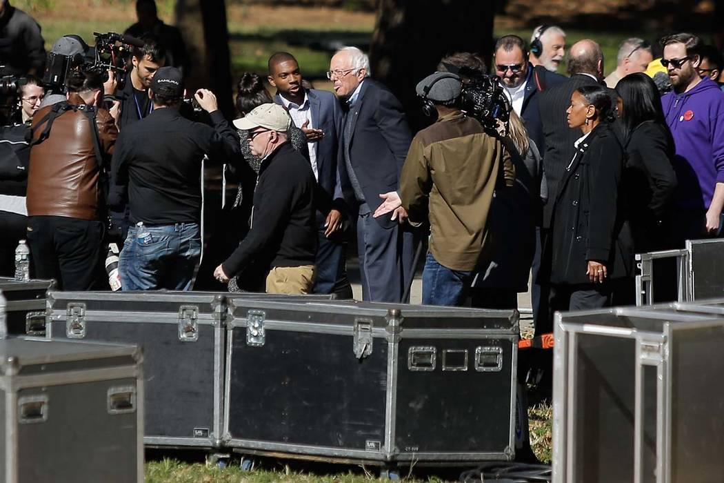
{"label": "young man in blue blazer and white shirt, hand at chest", "polygon": [[315,200],[319,227],[314,293],[334,293],[352,298],[347,278],[342,198],[337,154],[342,110],[334,94],[302,85],[297,60],[288,52],[269,57],[269,83],[277,88],[274,102],[289,112],[296,127],[307,136],[309,160],[317,180]]}

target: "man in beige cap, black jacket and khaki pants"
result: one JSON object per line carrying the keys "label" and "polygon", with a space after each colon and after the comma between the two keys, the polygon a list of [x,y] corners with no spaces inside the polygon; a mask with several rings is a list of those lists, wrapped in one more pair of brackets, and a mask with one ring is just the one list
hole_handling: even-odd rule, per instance
{"label": "man in beige cap, black jacket and khaki pants", "polygon": [[251,261],[269,261],[267,293],[311,293],[317,230],[316,180],[309,161],[287,142],[290,117],[278,104],[262,104],[234,125],[248,130],[251,154],[261,168],[254,190],[251,229],[234,253],[214,270],[228,282]]}

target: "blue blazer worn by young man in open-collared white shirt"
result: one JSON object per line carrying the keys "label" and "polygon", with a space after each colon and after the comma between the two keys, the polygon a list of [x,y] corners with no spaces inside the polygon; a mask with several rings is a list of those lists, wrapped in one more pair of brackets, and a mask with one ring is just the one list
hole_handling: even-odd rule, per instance
{"label": "blue blazer worn by young man in open-collared white shirt", "polygon": [[[342,108],[337,96],[329,91],[307,89],[307,98],[312,114],[312,127],[324,131],[324,138],[316,143],[317,184],[321,188],[317,190],[316,203],[321,214],[326,217],[333,206],[344,211],[343,206],[338,206],[339,203],[343,203],[343,197],[337,169],[337,155],[340,153],[342,135]],[[283,105],[278,93],[274,96],[274,102]]]}

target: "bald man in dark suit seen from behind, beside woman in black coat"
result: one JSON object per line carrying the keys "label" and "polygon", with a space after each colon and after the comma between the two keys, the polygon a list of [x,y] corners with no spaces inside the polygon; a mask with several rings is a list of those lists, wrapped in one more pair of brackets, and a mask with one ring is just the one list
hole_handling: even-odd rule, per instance
{"label": "bald man in dark suit seen from behind, beside woman in black coat", "polygon": [[[601,47],[592,40],[578,41],[568,51],[568,74],[571,77],[564,83],[546,89],[540,94],[538,101],[540,119],[545,139],[543,154],[543,171],[548,184],[549,199],[555,199],[559,182],[563,179],[565,167],[576,153],[574,143],[581,137],[580,130],[568,127],[565,110],[571,104],[571,95],[584,85],[599,85],[603,79],[603,52]],[[542,232],[545,238],[550,230],[552,203],[543,208]],[[545,283],[547,267],[542,262],[539,270],[539,299],[533,301],[536,335],[551,332],[548,298],[549,291]]]}

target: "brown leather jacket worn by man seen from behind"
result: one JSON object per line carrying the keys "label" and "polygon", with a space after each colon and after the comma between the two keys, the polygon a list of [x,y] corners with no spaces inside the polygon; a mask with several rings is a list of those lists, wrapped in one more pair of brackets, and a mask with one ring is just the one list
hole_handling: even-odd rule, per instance
{"label": "brown leather jacket worn by man seen from behind", "polygon": [[[85,103],[77,94],[71,94],[68,104]],[[46,106],[35,113],[33,140],[45,129],[43,118],[51,108]],[[101,162],[109,163],[118,130],[106,109],[98,109],[96,126],[106,156]],[[49,138],[30,148],[28,216],[99,219],[104,205],[99,176],[88,116],[80,111],[63,112],[54,120]]]}

